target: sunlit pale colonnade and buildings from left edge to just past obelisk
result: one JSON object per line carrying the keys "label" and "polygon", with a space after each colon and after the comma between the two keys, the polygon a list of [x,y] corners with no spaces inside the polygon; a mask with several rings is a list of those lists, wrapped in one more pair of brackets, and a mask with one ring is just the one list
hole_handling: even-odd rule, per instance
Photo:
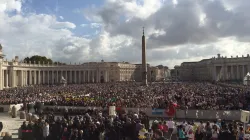
{"label": "sunlit pale colonnade and buildings from left edge to just past obelisk", "polygon": [[[151,73],[148,65],[148,77],[159,77]],[[21,62],[16,56],[12,61],[4,60],[0,45],[0,90],[28,85],[60,84],[62,77],[68,84],[105,83],[116,81],[142,81],[141,64],[128,62],[88,62],[83,64],[44,64]]]}

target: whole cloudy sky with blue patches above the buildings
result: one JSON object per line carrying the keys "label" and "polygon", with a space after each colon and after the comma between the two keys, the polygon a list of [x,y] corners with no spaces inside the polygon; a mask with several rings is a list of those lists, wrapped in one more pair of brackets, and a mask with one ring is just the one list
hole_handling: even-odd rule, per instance
{"label": "whole cloudy sky with blue patches above the buildings", "polygon": [[182,62],[250,52],[249,0],[0,0],[5,59]]}

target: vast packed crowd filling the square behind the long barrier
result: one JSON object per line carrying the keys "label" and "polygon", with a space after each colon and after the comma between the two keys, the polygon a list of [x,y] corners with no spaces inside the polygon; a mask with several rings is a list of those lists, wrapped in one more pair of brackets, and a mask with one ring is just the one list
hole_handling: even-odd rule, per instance
{"label": "vast packed crowd filling the square behind the long barrier", "polygon": [[45,105],[234,110],[247,108],[249,89],[211,83],[106,83],[32,86],[0,91],[0,104],[43,102]]}

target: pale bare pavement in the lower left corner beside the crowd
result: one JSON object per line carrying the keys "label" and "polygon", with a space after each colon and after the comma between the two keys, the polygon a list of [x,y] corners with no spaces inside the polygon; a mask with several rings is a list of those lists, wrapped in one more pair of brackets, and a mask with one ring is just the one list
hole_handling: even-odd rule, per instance
{"label": "pale bare pavement in the lower left corner beside the crowd", "polygon": [[[2,132],[10,132],[12,133],[12,138],[15,140],[18,138],[18,128],[21,126],[24,120],[19,119],[19,115],[17,118],[11,118],[8,113],[0,113],[0,122],[3,123]],[[0,133],[0,134],[1,134]],[[2,137],[0,137],[0,140]]]}

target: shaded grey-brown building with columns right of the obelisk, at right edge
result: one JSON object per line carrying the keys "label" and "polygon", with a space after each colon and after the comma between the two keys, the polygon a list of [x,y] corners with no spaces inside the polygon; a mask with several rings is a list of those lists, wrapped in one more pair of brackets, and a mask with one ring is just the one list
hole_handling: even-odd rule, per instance
{"label": "shaded grey-brown building with columns right of the obelisk, at right edge", "polygon": [[183,81],[242,81],[250,71],[250,56],[203,59],[199,62],[183,62],[171,71],[173,77]]}

